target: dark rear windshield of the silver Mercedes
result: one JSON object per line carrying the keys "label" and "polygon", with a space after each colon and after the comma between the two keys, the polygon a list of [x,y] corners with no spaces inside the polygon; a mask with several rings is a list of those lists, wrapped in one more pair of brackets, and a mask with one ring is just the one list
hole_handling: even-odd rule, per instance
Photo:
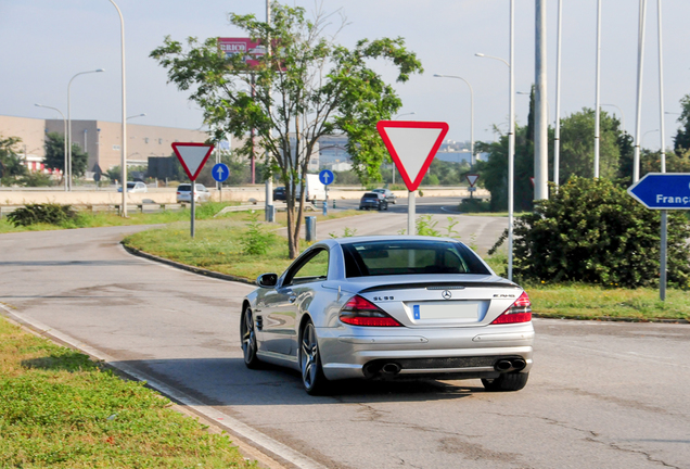
{"label": "dark rear windshield of the silver Mercedes", "polygon": [[464,244],[450,241],[366,241],[343,244],[345,275],[483,274],[489,270]]}

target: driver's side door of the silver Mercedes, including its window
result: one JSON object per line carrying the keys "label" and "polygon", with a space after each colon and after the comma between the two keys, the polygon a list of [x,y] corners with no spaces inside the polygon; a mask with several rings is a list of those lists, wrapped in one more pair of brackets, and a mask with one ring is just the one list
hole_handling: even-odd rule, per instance
{"label": "driver's side door of the silver Mercedes, including its window", "polygon": [[261,332],[266,351],[296,353],[298,320],[315,290],[328,279],[328,250],[311,249],[288,269],[280,287],[264,296]]}

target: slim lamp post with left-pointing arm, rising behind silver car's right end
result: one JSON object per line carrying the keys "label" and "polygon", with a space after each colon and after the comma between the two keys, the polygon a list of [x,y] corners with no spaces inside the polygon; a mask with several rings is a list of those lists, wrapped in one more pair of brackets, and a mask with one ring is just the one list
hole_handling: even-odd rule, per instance
{"label": "slim lamp post with left-pointing arm, rising behind silver car's right end", "polygon": [[514,199],[514,157],[515,157],[515,77],[512,64],[514,63],[514,22],[515,22],[515,8],[514,0],[510,0],[510,63],[506,60],[485,55],[483,53],[475,53],[474,55],[486,59],[494,59],[503,62],[509,71],[509,90],[508,90],[508,113],[509,113],[509,128],[508,128],[508,280],[513,279],[513,199]]}

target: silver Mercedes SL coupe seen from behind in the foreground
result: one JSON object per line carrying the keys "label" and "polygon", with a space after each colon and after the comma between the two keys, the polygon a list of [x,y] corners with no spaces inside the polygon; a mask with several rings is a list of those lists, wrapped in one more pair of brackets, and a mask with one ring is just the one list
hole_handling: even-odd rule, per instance
{"label": "silver Mercedes SL coupe seen from behind in the foreground", "polygon": [[244,364],[294,368],[309,394],[349,378],[527,383],[527,293],[455,239],[329,239],[256,282],[242,302]]}

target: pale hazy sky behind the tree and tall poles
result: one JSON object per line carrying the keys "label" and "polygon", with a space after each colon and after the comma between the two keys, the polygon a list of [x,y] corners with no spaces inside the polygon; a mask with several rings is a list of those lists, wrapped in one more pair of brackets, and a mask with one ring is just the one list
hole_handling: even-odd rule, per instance
{"label": "pale hazy sky behind the tree and tall poles", "polygon": [[[641,132],[646,148],[660,142],[657,1],[648,1]],[[548,100],[550,122],[555,119],[555,53],[558,0],[548,9]],[[509,0],[286,0],[314,12],[342,11],[348,25],[337,40],[353,47],[358,39],[403,37],[418,54],[424,73],[395,88],[403,100],[401,119],[449,124],[449,139],[470,140],[470,90],[474,90],[474,138],[491,141],[494,126],[508,122],[509,73],[506,64],[474,54],[509,59]],[[515,3],[515,89],[527,92],[534,83],[535,1]],[[167,84],[166,72],[152,50],[166,36],[242,37],[228,22],[228,13],[265,18],[265,0],[117,0],[125,18],[127,114],[145,113],[131,124],[197,129],[202,112],[188,92]],[[679,113],[679,100],[690,93],[690,1],[663,1],[665,110]],[[639,1],[602,0],[601,102],[623,112],[624,125],[635,134]],[[73,119],[120,122],[120,24],[108,0],[0,1],[0,115],[59,118],[67,114],[67,84],[72,85]],[[597,0],[563,0],[561,116],[595,106]],[[389,65],[376,71],[394,80]],[[613,105],[603,110],[616,114]],[[516,122],[527,121],[528,97],[515,97]],[[673,145],[677,115],[665,116],[666,145]],[[0,129],[2,132],[2,129]]]}

